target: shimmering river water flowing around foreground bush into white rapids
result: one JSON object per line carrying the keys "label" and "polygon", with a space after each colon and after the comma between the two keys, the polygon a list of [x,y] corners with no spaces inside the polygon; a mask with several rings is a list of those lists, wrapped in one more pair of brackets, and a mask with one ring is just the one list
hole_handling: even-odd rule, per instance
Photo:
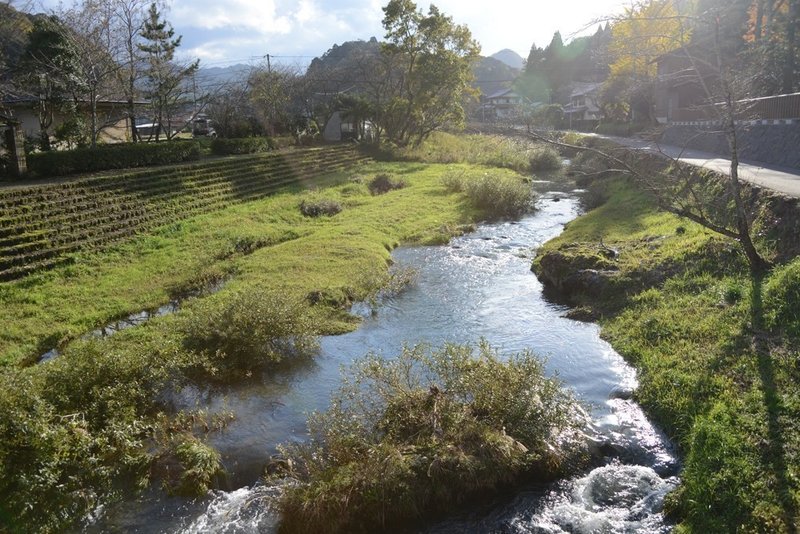
{"label": "shimmering river water flowing around foreground bush into white rapids", "polygon": [[[538,184],[546,188],[546,184]],[[269,532],[279,488],[259,476],[275,445],[303,440],[305,414],[324,409],[340,367],[373,351],[387,357],[403,343],[477,342],[502,352],[530,348],[547,358],[590,407],[591,431],[604,465],[570,480],[526,487],[469,513],[431,524],[431,532],[668,532],[664,495],[675,487],[677,460],[664,436],[630,399],[635,373],[594,324],[562,317],[530,271],[535,250],[580,212],[574,192],[542,194],[537,211],[516,222],[487,223],[441,247],[401,248],[417,282],[387,298],[355,332],[322,339],[313,361],[226,390],[188,391],[178,408],[228,410],[236,420],[210,435],[229,473],[227,491],[186,501],[153,490],[136,502],[99,510],[88,531]]]}

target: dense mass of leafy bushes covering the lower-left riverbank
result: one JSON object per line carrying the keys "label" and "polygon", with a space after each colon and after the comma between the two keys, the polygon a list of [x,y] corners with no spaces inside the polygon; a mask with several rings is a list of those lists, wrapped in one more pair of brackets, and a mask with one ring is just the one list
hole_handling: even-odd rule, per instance
{"label": "dense mass of leafy bushes covering the lower-left riverbank", "polygon": [[0,374],[0,527],[61,531],[151,479],[204,495],[221,472],[219,454],[164,399],[317,346],[306,308],[269,292],[201,299],[186,312],[171,318],[177,327],[163,318]]}

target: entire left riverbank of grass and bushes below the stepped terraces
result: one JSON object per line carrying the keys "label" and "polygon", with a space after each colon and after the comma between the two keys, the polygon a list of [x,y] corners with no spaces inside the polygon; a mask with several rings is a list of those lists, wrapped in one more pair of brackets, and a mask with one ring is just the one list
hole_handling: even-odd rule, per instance
{"label": "entire left riverbank of grass and bushes below the stepped terraces", "polygon": [[[173,413],[165,399],[291,365],[313,356],[316,335],[356,328],[347,304],[390,282],[394,247],[446,242],[489,215],[448,190],[448,172],[523,181],[470,165],[368,164],[1,284],[3,528],[59,531],[154,481],[175,493],[212,487],[219,456],[202,437],[224,414]],[[80,339],[197,290],[177,313]],[[54,361],[24,366],[56,345]]]}

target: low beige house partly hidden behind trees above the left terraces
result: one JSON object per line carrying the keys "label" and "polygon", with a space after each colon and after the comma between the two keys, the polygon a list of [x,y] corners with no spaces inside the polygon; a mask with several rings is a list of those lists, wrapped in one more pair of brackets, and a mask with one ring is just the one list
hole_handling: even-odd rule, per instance
{"label": "low beige house partly hidden behind trees above the left terraces", "polygon": [[[137,101],[138,107],[146,105],[147,102]],[[131,126],[128,119],[128,102],[125,100],[98,100],[97,103],[98,127],[101,127],[98,141],[101,143],[120,143],[130,141]],[[88,124],[90,122],[90,111],[88,101],[78,101],[78,112],[83,115]],[[36,97],[10,98],[2,102],[3,109],[7,114],[20,123],[20,130],[28,137],[39,137],[39,99]],[[61,110],[52,111],[52,124],[48,127],[48,132],[53,132],[66,121],[71,115]]]}

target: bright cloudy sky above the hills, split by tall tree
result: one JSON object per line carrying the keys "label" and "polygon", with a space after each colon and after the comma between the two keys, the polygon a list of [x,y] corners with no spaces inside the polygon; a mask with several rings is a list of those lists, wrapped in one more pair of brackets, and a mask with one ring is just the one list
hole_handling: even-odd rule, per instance
{"label": "bright cloudy sky above the hills, split by tall tree", "polygon": [[[183,36],[180,56],[201,67],[254,63],[267,54],[278,64],[307,65],[334,43],[383,38],[381,7],[388,0],[171,0],[165,18]],[[427,11],[431,2],[417,1]],[[523,58],[555,31],[565,41],[593,33],[604,16],[630,0],[434,0],[454,22],[466,24],[483,55],[510,48]],[[44,10],[59,0],[39,0]],[[62,0],[69,6],[71,0]]]}

